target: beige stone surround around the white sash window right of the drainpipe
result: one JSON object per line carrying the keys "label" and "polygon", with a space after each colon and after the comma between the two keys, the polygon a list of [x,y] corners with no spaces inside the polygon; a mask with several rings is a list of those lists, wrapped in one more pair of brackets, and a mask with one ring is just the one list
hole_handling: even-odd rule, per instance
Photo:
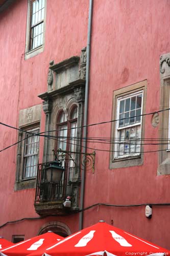
{"label": "beige stone surround around the white sash window right of the drainpipe", "polygon": [[[132,84],[131,86],[127,86],[125,88],[118,89],[116,91],[113,91],[113,106],[112,106],[112,120],[117,119],[117,108],[118,108],[118,100],[120,98],[129,98],[131,95],[138,95],[142,93],[142,113],[145,113],[145,102],[146,102],[146,96],[147,96],[147,80],[143,80],[141,82],[137,82],[135,84]],[[111,126],[111,138],[116,140],[117,136],[117,124],[116,122],[112,122]],[[144,137],[144,116],[141,118],[141,138]],[[140,143],[140,141],[138,142]],[[116,144],[111,144],[110,146],[110,169],[112,168],[122,168],[122,167],[129,167],[129,166],[136,166],[136,165],[142,165],[143,164],[143,146],[140,146],[140,153],[134,154],[134,155],[128,155],[127,157],[117,157],[115,158],[115,151],[117,150]]]}

